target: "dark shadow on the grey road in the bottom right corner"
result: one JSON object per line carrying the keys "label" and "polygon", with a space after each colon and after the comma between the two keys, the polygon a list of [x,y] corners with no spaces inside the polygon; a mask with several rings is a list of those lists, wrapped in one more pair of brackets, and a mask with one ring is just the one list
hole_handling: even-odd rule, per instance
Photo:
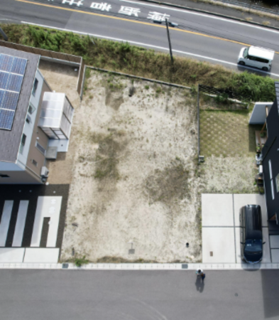
{"label": "dark shadow on the grey road in the bottom right corner", "polygon": [[265,319],[279,318],[279,270],[261,270]]}

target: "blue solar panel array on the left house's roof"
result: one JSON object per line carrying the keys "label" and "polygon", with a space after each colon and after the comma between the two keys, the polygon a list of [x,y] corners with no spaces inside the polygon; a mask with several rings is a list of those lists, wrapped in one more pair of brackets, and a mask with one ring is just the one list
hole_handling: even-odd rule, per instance
{"label": "blue solar panel array on the left house's roof", "polygon": [[0,54],[0,129],[11,130],[27,60]]}

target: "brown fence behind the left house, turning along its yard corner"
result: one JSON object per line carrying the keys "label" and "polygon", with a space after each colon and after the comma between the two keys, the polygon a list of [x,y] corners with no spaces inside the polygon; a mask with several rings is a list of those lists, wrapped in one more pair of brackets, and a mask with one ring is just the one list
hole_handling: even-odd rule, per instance
{"label": "brown fence behind the left house, turning along its yard corner", "polygon": [[11,48],[11,49],[16,49],[16,50],[21,50],[24,52],[28,53],[34,53],[36,55],[41,55],[42,57],[45,58],[50,58],[50,59],[55,59],[55,60],[60,60],[66,61],[67,63],[77,63],[80,65],[80,73],[77,79],[77,92],[81,96],[82,94],[82,79],[84,75],[84,61],[82,60],[82,57],[78,55],[69,55],[67,53],[60,53],[60,52],[55,52],[55,51],[50,51],[50,50],[45,50],[45,49],[40,49],[40,48],[33,48],[29,46],[23,46],[18,43],[12,43],[12,42],[7,42],[0,40],[0,46],[6,47],[6,48]]}

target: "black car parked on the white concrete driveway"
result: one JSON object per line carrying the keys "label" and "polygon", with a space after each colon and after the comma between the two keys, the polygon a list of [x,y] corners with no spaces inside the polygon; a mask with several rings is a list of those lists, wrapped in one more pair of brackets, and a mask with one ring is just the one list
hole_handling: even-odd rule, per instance
{"label": "black car parked on the white concrete driveway", "polygon": [[261,224],[261,207],[247,205],[241,208],[241,258],[255,264],[263,259],[263,231]]}

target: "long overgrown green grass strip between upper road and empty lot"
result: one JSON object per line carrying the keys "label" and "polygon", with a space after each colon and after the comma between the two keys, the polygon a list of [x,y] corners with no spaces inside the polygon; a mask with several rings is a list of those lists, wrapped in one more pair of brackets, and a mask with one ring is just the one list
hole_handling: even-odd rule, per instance
{"label": "long overgrown green grass strip between upper road and empty lot", "polygon": [[[11,42],[72,55],[81,55],[84,63],[97,68],[173,82],[192,87],[197,83],[230,89],[240,95],[251,95],[253,101],[275,99],[274,80],[251,73],[234,73],[220,65],[198,62],[190,58],[170,57],[128,43],[118,43],[75,33],[38,26],[1,24]],[[93,41],[92,41],[93,40]]]}

